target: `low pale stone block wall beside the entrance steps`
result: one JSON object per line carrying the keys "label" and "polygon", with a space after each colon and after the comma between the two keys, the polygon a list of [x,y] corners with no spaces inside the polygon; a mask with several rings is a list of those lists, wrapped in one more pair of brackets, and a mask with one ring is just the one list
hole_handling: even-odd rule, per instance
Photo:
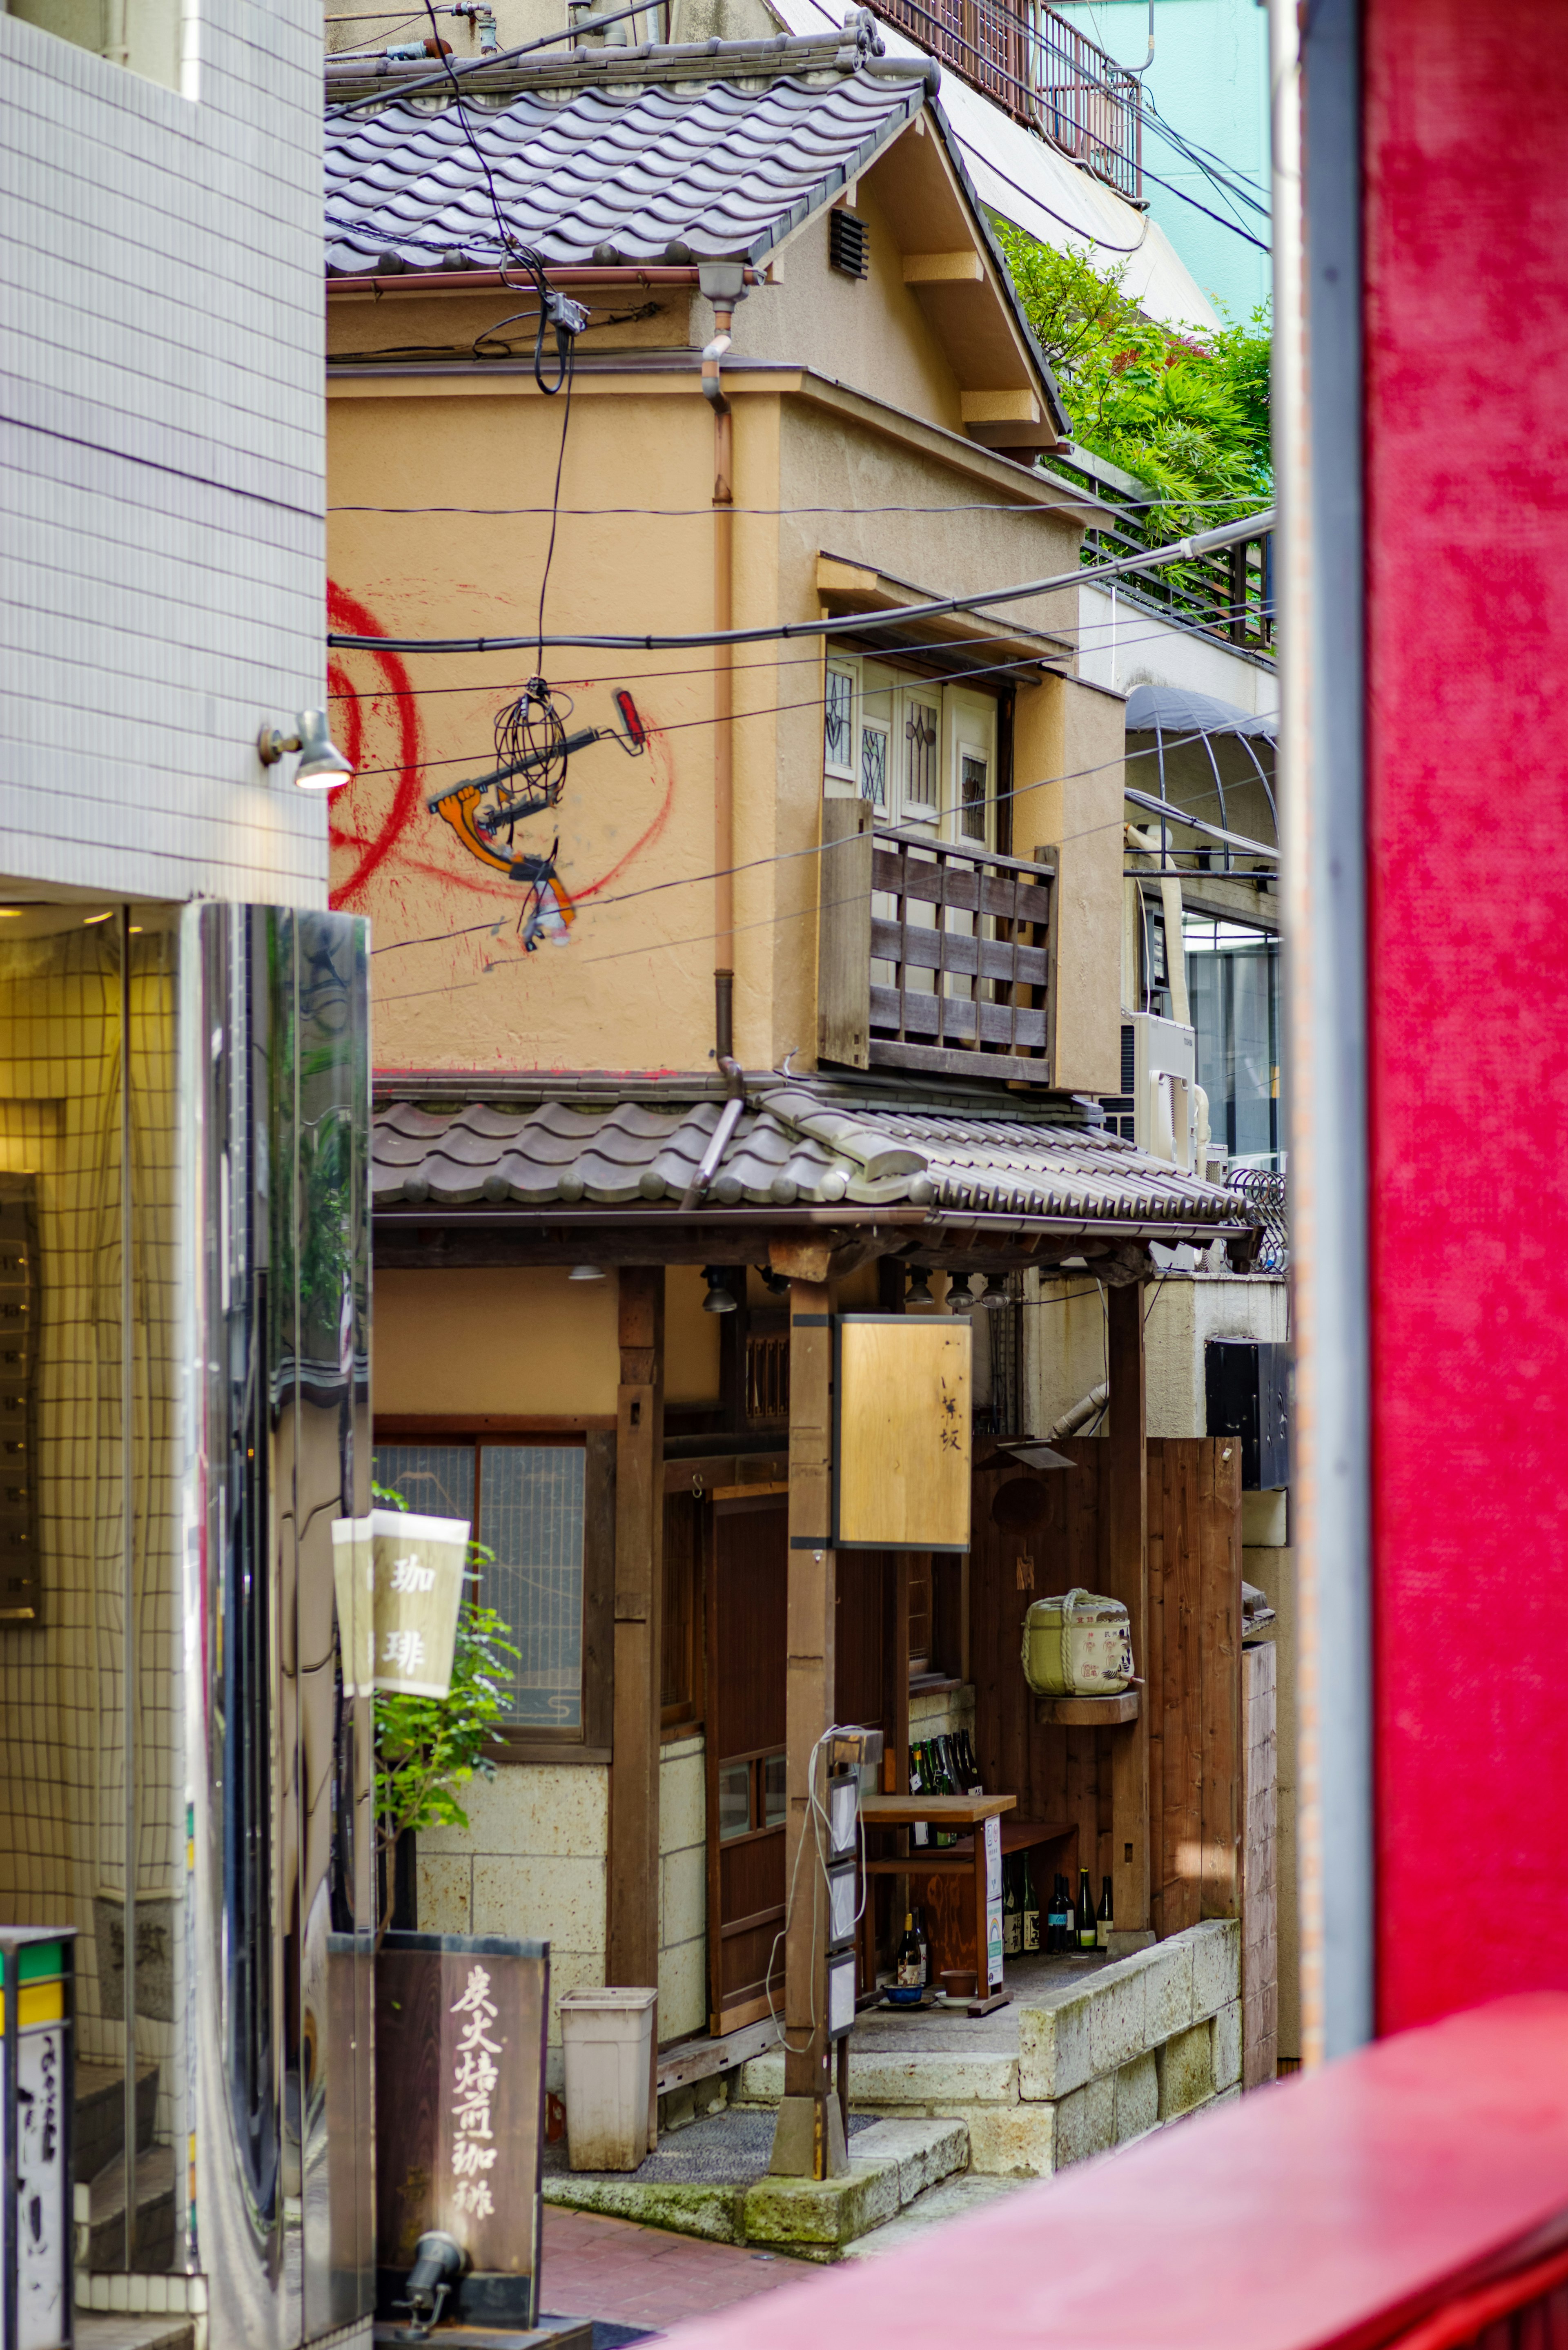
{"label": "low pale stone block wall beside the entrance steps", "polygon": [[[1048,2178],[1241,2089],[1241,1927],[1211,1918],[1018,2009],[1006,2049],[851,2047],[858,2110],[964,2122],[971,2171]],[[783,2056],[745,2066],[738,2103],[783,2096]]]}

